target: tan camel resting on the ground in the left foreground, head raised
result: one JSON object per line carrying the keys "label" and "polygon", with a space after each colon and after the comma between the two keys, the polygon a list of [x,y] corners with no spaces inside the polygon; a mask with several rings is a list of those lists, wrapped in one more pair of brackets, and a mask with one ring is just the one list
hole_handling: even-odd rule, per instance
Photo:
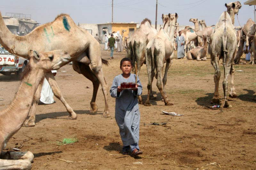
{"label": "tan camel resting on the ground in the left foreground, head raised", "polygon": [[12,103],[0,111],[0,169],[31,169],[34,159],[32,152],[3,152],[3,149],[28,117],[33,97],[44,80],[44,74],[59,69],[71,59],[63,50],[42,53],[30,50],[29,54],[29,63],[23,72],[18,92]]}

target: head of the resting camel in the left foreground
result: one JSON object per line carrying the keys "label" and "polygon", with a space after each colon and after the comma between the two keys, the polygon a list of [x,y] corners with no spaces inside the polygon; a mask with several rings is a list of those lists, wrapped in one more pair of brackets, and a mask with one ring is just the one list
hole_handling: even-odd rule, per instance
{"label": "head of the resting camel in the left foreground", "polygon": [[70,55],[63,50],[53,50],[49,52],[39,53],[30,50],[29,65],[31,67],[43,69],[44,71],[58,70],[63,65],[69,63]]}

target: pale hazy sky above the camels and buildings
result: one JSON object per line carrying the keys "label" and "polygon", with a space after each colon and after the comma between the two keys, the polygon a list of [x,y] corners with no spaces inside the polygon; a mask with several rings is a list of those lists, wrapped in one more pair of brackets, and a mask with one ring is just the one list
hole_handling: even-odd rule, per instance
{"label": "pale hazy sky above the camels and buildings", "polygon": [[[234,2],[236,0],[233,0]],[[31,14],[32,19],[44,24],[58,14],[67,13],[76,24],[111,22],[112,0],[1,0],[0,11]],[[12,3],[10,3],[12,2]],[[157,24],[162,24],[162,13],[177,13],[180,25],[193,25],[189,18],[205,19],[208,26],[216,24],[220,14],[226,11],[223,0],[158,0]],[[242,25],[249,18],[254,20],[254,7],[244,5],[238,18]],[[114,22],[138,22],[149,18],[155,24],[156,0],[114,0]],[[239,26],[237,18],[235,25]]]}

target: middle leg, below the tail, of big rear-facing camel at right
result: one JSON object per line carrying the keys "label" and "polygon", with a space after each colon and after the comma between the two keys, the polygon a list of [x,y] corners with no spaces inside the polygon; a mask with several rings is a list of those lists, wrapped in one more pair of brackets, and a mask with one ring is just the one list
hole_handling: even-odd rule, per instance
{"label": "middle leg, below the tail, of big rear-facing camel at right", "polygon": [[[225,54],[224,54],[225,55]],[[224,66],[224,79],[222,82],[222,86],[223,86],[223,91],[224,91],[224,98],[225,98],[225,103],[224,106],[225,108],[232,108],[231,105],[229,105],[228,100],[227,100],[227,91],[228,91],[228,74],[230,73],[230,68],[231,68],[231,64],[232,61],[229,60],[228,54],[226,56],[226,62],[223,62],[223,66]]]}

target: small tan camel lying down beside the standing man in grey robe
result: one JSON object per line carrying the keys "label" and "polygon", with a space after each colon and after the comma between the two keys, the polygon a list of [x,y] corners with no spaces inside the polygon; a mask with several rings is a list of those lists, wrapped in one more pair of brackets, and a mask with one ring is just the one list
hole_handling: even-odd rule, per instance
{"label": "small tan camel lying down beside the standing man in grey robe", "polygon": [[207,60],[206,55],[207,55],[207,47],[208,47],[208,39],[207,35],[204,35],[204,47],[197,46],[196,48],[193,48],[188,51],[188,60],[193,60],[196,59],[197,61],[201,60]]}

